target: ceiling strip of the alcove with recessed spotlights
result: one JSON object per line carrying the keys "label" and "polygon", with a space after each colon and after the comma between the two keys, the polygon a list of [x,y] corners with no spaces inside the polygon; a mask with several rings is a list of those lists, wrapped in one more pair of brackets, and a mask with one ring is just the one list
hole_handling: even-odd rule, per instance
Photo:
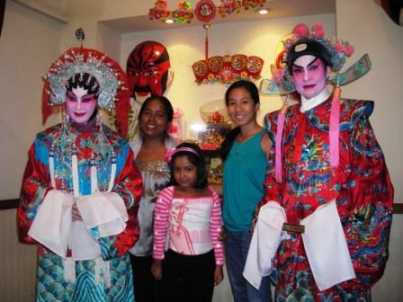
{"label": "ceiling strip of the alcove with recessed spotlights", "polygon": [[[150,0],[149,2],[151,8],[151,4],[154,3],[154,0]],[[172,0],[171,2],[175,3],[175,1]],[[218,1],[215,1],[215,3],[218,4]],[[225,18],[222,18],[219,13],[217,13],[216,18],[210,23],[259,21],[299,15],[336,13],[336,0],[267,0],[264,7],[269,9],[269,13],[259,14],[256,10],[250,9],[248,11],[242,10],[241,13],[232,13]],[[170,6],[169,9],[173,10]],[[102,21],[102,23],[120,33],[166,30],[201,25],[201,22],[198,21],[196,17],[193,17],[190,24],[166,24],[166,22],[150,21],[148,15],[105,20]]]}

